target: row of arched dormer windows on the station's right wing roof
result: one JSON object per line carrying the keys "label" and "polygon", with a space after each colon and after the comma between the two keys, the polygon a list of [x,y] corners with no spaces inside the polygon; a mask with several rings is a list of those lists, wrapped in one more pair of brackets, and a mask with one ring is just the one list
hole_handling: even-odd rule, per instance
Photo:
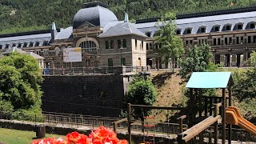
{"label": "row of arched dormer windows on the station's right wing roof", "polygon": [[[233,30],[242,30],[243,27],[243,23],[238,23],[234,26]],[[223,26],[222,31],[230,31],[232,29],[232,25],[231,24],[226,24],[225,26]],[[250,22],[247,26],[246,29],[255,29],[255,22]],[[183,34],[192,34],[192,30],[193,28],[186,28],[186,30],[184,30]],[[210,30],[210,32],[219,32],[220,31],[220,25],[216,25],[213,26],[212,29]],[[201,26],[197,33],[206,33],[206,26]],[[182,30],[178,29],[176,30],[176,34],[182,34]]]}

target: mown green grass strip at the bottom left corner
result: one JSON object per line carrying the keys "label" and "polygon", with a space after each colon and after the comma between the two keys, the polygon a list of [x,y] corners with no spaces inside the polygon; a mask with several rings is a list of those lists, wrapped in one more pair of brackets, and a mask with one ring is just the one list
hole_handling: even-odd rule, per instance
{"label": "mown green grass strip at the bottom left corner", "polygon": [[[46,134],[46,138],[65,138],[56,134]],[[10,130],[0,128],[0,142],[6,144],[30,144],[36,138],[33,131]]]}

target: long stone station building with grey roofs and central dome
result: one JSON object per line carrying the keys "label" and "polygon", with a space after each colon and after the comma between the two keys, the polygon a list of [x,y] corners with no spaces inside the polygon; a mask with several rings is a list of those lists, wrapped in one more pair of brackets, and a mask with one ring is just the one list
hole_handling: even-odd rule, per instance
{"label": "long stone station building with grey roofs and central dome", "polygon": [[[91,66],[151,66],[168,68],[169,60],[158,58],[153,50],[161,45],[154,42],[158,18],[124,21],[100,2],[83,5],[74,15],[73,26],[66,29],[41,30],[0,35],[0,53],[12,47],[42,56],[46,67]],[[256,49],[256,7],[219,10],[177,16],[177,34],[185,49],[211,46],[215,64],[246,66]],[[63,62],[62,50],[82,48],[82,62]],[[186,55],[184,56],[186,57]]]}

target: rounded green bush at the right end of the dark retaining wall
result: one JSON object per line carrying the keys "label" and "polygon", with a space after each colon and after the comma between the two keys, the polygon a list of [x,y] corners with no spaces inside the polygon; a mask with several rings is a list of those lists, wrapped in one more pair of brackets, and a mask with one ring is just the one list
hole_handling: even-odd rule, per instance
{"label": "rounded green bush at the right end of the dark retaining wall", "polygon": [[[126,103],[132,103],[135,105],[146,105],[153,106],[156,102],[156,90],[154,85],[150,80],[145,80],[143,78],[138,78],[132,82],[128,88],[128,93],[126,94]],[[142,118],[142,113],[147,116],[150,114],[150,110],[146,109],[135,109],[134,118]]]}

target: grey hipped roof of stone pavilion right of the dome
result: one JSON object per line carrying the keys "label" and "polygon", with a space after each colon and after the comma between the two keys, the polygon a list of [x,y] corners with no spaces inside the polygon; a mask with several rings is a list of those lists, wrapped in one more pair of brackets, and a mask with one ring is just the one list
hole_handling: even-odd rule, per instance
{"label": "grey hipped roof of stone pavilion right of the dome", "polygon": [[136,29],[130,22],[118,23],[115,26],[110,27],[108,30],[106,30],[106,32],[100,34],[98,37],[106,38],[129,34],[134,34],[146,38],[146,35],[143,34],[140,30]]}

